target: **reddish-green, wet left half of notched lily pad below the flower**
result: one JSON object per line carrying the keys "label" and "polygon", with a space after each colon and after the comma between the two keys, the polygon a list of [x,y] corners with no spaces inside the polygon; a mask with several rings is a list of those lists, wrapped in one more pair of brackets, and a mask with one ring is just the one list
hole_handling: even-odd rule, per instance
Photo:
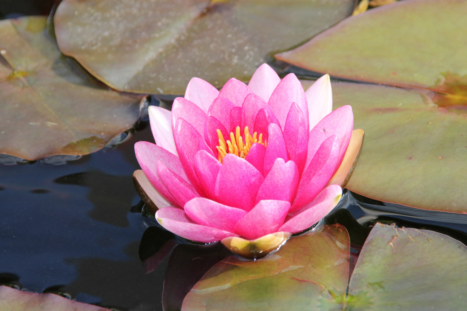
{"label": "reddish-green, wet left half of notched lily pad below the flower", "polygon": [[332,225],[290,239],[266,259],[228,257],[193,287],[182,310],[321,310],[323,301],[344,297],[349,250],[347,230]]}

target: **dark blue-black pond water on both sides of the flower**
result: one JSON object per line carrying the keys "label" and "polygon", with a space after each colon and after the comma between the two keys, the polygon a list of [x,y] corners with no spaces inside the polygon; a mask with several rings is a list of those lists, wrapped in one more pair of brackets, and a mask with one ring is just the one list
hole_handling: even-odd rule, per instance
{"label": "dark blue-black pond water on both sides of the flower", "polygon": [[[132,181],[139,169],[133,146],[141,140],[154,142],[148,121],[140,122],[122,144],[63,165],[39,160],[0,166],[0,283],[66,293],[114,310],[142,311],[162,310],[165,277],[170,289],[165,310],[181,306],[190,286],[229,254],[221,245],[209,250],[179,245],[170,262],[167,256],[155,270],[145,272],[141,259],[150,258],[172,237],[144,216],[144,208],[141,213],[143,204]],[[459,217],[456,222],[435,221],[439,216],[426,211],[413,217],[411,209],[402,213],[397,205],[385,206],[350,192],[336,209],[325,222],[344,224],[357,245],[368,235],[365,227],[375,221],[427,228],[467,241],[467,225],[459,223],[465,221]]]}

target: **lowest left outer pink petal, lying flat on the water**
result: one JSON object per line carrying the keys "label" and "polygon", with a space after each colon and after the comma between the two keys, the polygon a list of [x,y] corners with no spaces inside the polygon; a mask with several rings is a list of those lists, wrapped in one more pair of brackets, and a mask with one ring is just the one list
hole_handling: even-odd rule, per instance
{"label": "lowest left outer pink petal, lying flat on the water", "polygon": [[211,243],[229,236],[238,236],[232,232],[198,225],[180,208],[164,207],[159,209],[156,212],[156,220],[170,232],[191,241]]}

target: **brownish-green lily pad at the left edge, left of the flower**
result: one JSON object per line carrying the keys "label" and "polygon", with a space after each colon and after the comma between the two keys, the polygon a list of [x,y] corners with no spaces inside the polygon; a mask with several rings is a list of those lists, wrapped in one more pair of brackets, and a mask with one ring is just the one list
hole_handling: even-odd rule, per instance
{"label": "brownish-green lily pad at the left edge, left of the flower", "polygon": [[139,117],[141,98],[88,81],[60,54],[46,17],[0,21],[0,152],[87,154]]}

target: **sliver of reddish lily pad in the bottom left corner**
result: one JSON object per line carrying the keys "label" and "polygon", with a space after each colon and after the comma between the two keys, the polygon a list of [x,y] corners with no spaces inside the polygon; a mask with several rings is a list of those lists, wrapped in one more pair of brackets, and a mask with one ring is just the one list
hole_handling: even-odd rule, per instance
{"label": "sliver of reddish lily pad in the bottom left corner", "polygon": [[55,294],[36,294],[0,286],[0,310],[2,311],[109,311],[91,304],[71,301]]}

